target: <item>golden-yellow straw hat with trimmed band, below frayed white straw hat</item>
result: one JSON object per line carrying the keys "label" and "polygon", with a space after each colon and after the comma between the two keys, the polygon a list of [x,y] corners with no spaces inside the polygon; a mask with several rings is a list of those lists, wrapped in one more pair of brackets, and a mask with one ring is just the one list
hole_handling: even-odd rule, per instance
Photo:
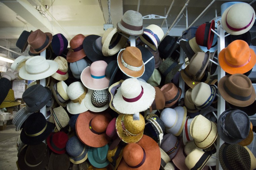
{"label": "golden-yellow straw hat with trimmed band, below frayed white straw hat", "polygon": [[120,114],[116,120],[117,134],[125,143],[136,143],[143,135],[145,120],[139,113],[138,118],[133,115]]}

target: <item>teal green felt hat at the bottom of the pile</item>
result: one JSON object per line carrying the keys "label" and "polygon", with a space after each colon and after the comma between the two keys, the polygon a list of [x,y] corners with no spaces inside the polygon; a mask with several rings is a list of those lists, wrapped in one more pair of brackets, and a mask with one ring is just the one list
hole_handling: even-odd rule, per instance
{"label": "teal green felt hat at the bottom of the pile", "polygon": [[107,160],[108,148],[109,146],[107,144],[98,148],[89,148],[88,160],[92,164],[92,166],[96,168],[104,168],[109,164],[109,161]]}

